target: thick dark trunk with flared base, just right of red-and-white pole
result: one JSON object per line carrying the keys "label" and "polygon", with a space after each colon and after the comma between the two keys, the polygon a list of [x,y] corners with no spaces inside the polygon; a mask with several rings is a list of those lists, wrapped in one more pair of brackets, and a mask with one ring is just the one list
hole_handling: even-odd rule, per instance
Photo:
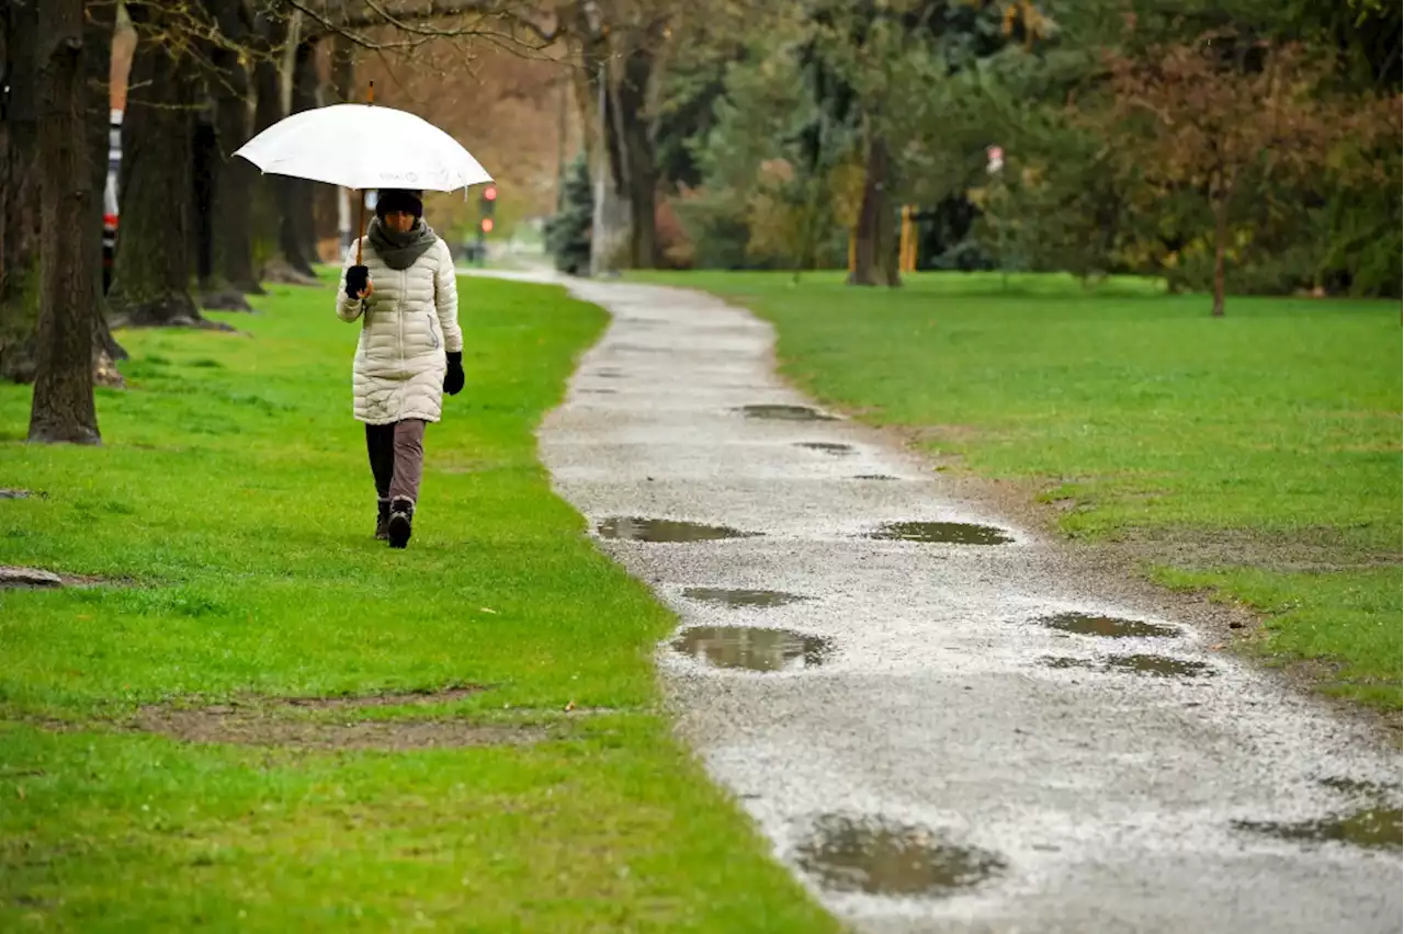
{"label": "thick dark trunk with flared base, just right of red-and-white pole", "polygon": [[136,55],[122,118],[122,226],[108,303],[129,325],[198,325],[191,296],[191,129],[197,80],[188,55],[156,39],[161,13],[133,6]]}

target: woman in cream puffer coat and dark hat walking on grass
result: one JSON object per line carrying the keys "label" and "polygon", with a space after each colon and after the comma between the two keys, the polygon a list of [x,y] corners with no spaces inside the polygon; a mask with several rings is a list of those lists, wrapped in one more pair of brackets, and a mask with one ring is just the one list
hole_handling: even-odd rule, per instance
{"label": "woman in cream puffer coat and dark hat walking on grass", "polygon": [[351,245],[337,292],[337,317],[361,318],[352,366],[355,418],[375,477],[375,537],[410,541],[424,473],[424,426],[437,422],[444,393],[463,388],[453,258],[424,223],[418,191],[385,189],[364,241]]}

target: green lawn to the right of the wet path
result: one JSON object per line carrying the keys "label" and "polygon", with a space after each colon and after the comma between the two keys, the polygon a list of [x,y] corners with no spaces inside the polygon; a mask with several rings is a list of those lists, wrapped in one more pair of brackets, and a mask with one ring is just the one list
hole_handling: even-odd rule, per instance
{"label": "green lawn to the right of the wet path", "polygon": [[1214,321],[1206,297],[1137,280],[649,279],[757,310],[819,398],[1033,481],[1067,533],[1144,543],[1161,582],[1244,600],[1266,651],[1327,662],[1327,690],[1404,707],[1396,303],[1241,297]]}

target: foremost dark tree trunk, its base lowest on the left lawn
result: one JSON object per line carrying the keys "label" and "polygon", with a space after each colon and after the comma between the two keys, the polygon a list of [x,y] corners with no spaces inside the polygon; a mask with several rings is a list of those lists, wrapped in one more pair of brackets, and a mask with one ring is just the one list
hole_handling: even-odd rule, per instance
{"label": "foremost dark tree trunk, its base lowest on the left lawn", "polygon": [[93,401],[93,297],[98,262],[84,236],[93,219],[93,172],[84,163],[87,114],[83,0],[45,0],[38,55],[42,233],[39,234],[38,373],[31,442],[98,443]]}

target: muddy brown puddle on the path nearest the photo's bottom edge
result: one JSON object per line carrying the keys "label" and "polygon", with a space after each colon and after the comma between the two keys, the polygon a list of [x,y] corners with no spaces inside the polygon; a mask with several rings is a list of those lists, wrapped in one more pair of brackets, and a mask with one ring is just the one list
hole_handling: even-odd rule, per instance
{"label": "muddy brown puddle on the path nearest the photo's bottom edge", "polygon": [[953,846],[925,827],[838,815],[816,820],[796,860],[826,889],[894,896],[953,895],[1007,865],[994,853]]}

